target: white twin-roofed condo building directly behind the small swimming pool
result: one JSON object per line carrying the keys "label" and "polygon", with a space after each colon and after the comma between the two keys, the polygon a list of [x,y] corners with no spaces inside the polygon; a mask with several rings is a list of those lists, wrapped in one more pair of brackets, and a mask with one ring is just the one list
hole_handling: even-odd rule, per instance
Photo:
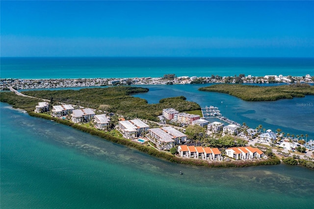
{"label": "white twin-roofed condo building directly behind the small swimming pool", "polygon": [[133,139],[149,130],[149,126],[139,119],[119,121],[121,133],[128,139]]}

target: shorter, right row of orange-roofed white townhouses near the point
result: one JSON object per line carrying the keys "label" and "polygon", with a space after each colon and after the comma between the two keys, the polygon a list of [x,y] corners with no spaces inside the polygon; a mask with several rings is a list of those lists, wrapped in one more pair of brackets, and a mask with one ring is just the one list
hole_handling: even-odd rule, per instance
{"label": "shorter, right row of orange-roofed white townhouses near the point", "polygon": [[253,159],[262,158],[264,154],[258,148],[253,147],[232,147],[226,149],[226,155],[235,159]]}

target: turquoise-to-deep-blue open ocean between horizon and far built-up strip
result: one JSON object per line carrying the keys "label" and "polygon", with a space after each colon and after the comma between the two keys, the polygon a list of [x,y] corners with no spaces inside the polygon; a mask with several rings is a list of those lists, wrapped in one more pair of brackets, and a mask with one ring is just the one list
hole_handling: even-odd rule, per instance
{"label": "turquoise-to-deep-blue open ocean between horizon and far built-up strip", "polygon": [[1,57],[0,78],[314,75],[314,58]]}

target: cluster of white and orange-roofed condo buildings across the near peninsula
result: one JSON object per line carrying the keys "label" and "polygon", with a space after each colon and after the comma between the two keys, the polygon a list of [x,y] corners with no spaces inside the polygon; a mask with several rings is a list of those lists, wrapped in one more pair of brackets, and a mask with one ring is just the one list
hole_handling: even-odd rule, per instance
{"label": "cluster of white and orange-roofed condo buildings across the near peninsula", "polygon": [[[60,104],[50,107],[48,102],[40,102],[35,106],[35,112],[43,113],[49,112],[53,117],[71,120],[73,123],[89,123],[99,130],[109,130],[110,117],[105,114],[97,114],[91,108],[75,108],[75,105]],[[228,124],[225,126],[222,122],[211,122],[200,119],[199,115],[192,115],[187,113],[180,113],[174,108],[166,108],[162,111],[162,116],[168,120],[183,123],[185,125],[197,125],[207,128],[207,135],[235,135],[246,140],[257,139],[260,143],[274,144],[283,134],[279,131],[274,133],[271,130],[261,132],[261,129],[250,129],[246,126],[237,126],[235,124]],[[218,118],[218,117],[217,117]],[[227,122],[228,123],[228,122]],[[147,122],[140,119],[125,120],[120,118],[115,128],[123,135],[124,138],[144,144],[150,141],[159,150],[171,150],[176,148],[180,157],[198,158],[204,160],[223,160],[224,157],[218,148],[193,146],[188,144],[189,139],[187,135],[178,129],[164,125],[159,128],[150,128]],[[260,127],[261,128],[261,127]],[[185,131],[185,130],[184,130]],[[293,139],[294,141],[295,139]],[[284,138],[283,143],[287,143],[287,138]],[[289,141],[291,143],[291,141]],[[314,143],[310,141],[307,143],[307,149],[314,150]],[[292,143],[289,148],[299,146],[297,143]],[[224,151],[226,157],[233,159],[247,160],[254,158],[262,158],[264,154],[261,150],[252,147],[233,147]]]}

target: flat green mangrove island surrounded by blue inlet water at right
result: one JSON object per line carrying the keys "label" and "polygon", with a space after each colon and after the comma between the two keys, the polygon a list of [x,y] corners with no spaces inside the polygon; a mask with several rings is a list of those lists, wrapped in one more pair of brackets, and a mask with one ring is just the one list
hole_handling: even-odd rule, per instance
{"label": "flat green mangrove island surrounded by blue inlet water at right", "polygon": [[216,84],[199,88],[199,90],[226,93],[245,101],[275,101],[314,95],[314,86],[300,83],[281,86]]}

